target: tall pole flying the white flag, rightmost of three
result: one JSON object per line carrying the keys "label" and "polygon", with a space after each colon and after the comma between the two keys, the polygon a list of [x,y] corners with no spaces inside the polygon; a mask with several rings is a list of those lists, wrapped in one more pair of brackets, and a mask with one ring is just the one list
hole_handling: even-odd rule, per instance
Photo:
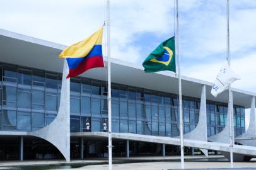
{"label": "tall pole flying the white flag, rightmost of three", "polygon": [[[227,18],[227,60],[230,66],[230,1],[226,1]],[[231,85],[228,86],[228,105],[230,111],[230,166],[233,167],[233,95],[231,94]]]}

